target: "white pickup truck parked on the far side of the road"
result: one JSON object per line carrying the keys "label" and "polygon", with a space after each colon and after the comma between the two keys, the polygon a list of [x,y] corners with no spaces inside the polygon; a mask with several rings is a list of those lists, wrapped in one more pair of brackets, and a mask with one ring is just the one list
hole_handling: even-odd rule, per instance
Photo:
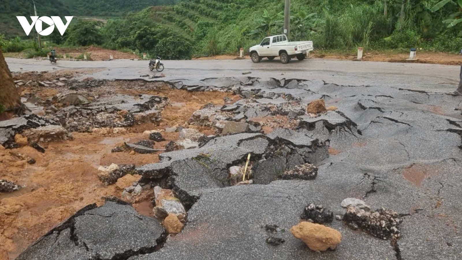
{"label": "white pickup truck parked on the far side of the road", "polygon": [[291,58],[297,57],[299,61],[304,60],[307,53],[313,50],[313,42],[289,42],[286,35],[275,35],[266,37],[260,44],[250,47],[249,55],[252,62],[258,63],[261,58],[273,60],[280,56],[281,62],[286,64]]}

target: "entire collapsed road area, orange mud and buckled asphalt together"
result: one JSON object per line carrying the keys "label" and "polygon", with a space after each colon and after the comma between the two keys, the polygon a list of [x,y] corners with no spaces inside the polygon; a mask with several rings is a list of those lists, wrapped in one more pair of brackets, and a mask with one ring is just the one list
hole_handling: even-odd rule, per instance
{"label": "entire collapsed road area, orange mud and buckled asphalt together", "polygon": [[14,76],[41,116],[0,122],[10,259],[460,259],[460,97]]}

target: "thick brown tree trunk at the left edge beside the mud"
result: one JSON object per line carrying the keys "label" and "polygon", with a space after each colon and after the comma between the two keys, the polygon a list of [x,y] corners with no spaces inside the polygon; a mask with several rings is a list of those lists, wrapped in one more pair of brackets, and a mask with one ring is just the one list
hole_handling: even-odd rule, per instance
{"label": "thick brown tree trunk at the left edge beside the mud", "polygon": [[0,50],[0,105],[5,111],[14,112],[21,106],[21,98]]}

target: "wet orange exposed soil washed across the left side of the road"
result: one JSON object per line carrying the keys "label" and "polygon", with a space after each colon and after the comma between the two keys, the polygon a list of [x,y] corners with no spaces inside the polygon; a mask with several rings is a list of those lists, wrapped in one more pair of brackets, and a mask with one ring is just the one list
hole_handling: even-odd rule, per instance
{"label": "wet orange exposed soil washed across the left side of the road", "polygon": [[[62,72],[59,72],[62,73]],[[67,74],[73,72],[68,71]],[[16,74],[15,80],[52,80],[58,73]],[[23,95],[35,93],[43,99],[65,91],[66,87],[21,87]],[[223,92],[187,92],[171,89],[159,82],[109,81],[101,87],[79,90],[88,96],[107,94],[154,94],[167,96],[170,104],[162,112],[159,125],[138,124],[127,128],[127,133],[73,133],[74,140],[44,144],[44,154],[25,146],[18,149],[0,150],[0,179],[6,179],[24,185],[23,189],[12,193],[0,193],[0,259],[12,260],[30,243],[44,235],[50,229],[72,216],[87,204],[102,204],[102,197],[122,198],[122,190],[115,185],[104,186],[97,177],[99,166],[116,164],[134,164],[136,166],[158,161],[158,154],[133,154],[129,152],[111,153],[111,149],[125,141],[137,142],[148,139],[145,130],[163,130],[166,127],[183,125],[191,114],[202,106],[224,104],[224,98],[235,98]],[[205,127],[196,127],[209,135],[214,131]],[[170,141],[178,139],[178,133],[162,132],[164,142],[156,142],[154,148],[162,149]],[[17,154],[36,160],[28,164]],[[153,197],[144,192],[131,203],[140,214],[151,215]]]}

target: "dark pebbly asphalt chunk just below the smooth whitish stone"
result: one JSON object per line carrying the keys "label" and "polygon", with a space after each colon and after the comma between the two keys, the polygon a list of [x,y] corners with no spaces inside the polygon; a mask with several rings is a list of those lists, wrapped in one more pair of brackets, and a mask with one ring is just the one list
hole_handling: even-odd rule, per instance
{"label": "dark pebbly asphalt chunk just below the smooth whitish stone", "polygon": [[349,207],[343,221],[354,224],[369,234],[383,240],[401,236],[398,226],[403,219],[393,210],[381,208],[377,211],[366,211],[357,207]]}

